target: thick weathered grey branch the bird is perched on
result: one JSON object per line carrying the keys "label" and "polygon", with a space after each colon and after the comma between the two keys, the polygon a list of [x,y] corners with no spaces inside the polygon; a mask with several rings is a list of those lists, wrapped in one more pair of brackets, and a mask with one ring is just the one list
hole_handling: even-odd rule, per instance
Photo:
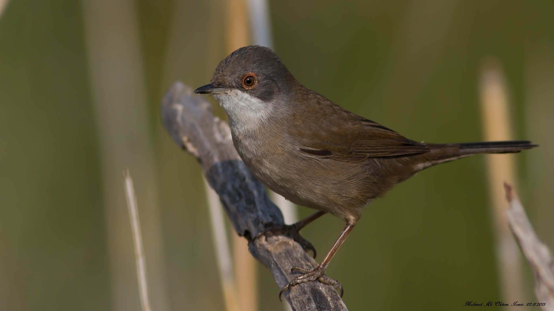
{"label": "thick weathered grey branch the bird is perched on", "polygon": [[[292,267],[317,266],[290,236],[252,240],[271,224],[284,224],[283,215],[240,159],[229,126],[213,116],[210,103],[202,96],[192,95],[190,87],[175,82],[163,97],[162,119],[175,142],[196,156],[235,231],[247,237],[250,253],[270,269],[279,288],[296,276],[290,272]],[[335,289],[320,282],[294,286],[284,297],[293,310],[346,310]]]}

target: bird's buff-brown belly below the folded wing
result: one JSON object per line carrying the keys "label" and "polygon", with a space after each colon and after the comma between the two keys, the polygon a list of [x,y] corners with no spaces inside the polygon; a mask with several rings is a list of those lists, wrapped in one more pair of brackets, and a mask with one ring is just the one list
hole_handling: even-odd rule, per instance
{"label": "bird's buff-brown belly below the folded wing", "polygon": [[345,162],[304,155],[294,146],[261,146],[254,139],[234,139],[235,148],[261,183],[291,202],[357,221],[361,208],[378,194],[372,191],[371,163]]}

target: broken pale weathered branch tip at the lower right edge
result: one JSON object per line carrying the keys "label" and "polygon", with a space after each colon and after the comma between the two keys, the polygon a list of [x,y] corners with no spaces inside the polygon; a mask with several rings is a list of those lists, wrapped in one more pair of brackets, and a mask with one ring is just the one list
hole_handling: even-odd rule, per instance
{"label": "broken pale weathered branch tip at the lower right edge", "polygon": [[535,274],[535,296],[538,303],[545,303],[541,308],[545,311],[554,311],[554,260],[548,247],[538,239],[525,210],[512,187],[504,183],[506,198],[510,209],[506,216],[510,229],[517,239]]}

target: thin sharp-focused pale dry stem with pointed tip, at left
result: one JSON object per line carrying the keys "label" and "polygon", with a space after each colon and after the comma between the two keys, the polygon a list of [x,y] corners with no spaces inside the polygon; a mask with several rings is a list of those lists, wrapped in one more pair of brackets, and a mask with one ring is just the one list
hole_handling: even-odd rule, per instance
{"label": "thin sharp-focused pale dry stem with pointed tip, at left", "polygon": [[129,170],[123,172],[123,175],[125,177],[125,195],[127,197],[127,207],[129,208],[129,218],[131,219],[131,230],[133,232],[133,241],[135,242],[135,260],[137,279],[139,281],[140,302],[142,311],[151,311],[150,296],[148,295],[148,279],[146,276],[146,261],[140,232],[139,210],[137,209],[133,180],[131,175],[129,175]]}

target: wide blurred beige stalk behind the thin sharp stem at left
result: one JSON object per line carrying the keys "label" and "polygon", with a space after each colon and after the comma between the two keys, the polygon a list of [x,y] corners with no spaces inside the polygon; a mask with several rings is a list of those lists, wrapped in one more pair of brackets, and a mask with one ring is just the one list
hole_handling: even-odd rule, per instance
{"label": "wide blurred beige stalk behind the thin sharp stem at left", "polygon": [[[16,2],[14,2],[16,3]],[[48,2],[50,3],[50,2]],[[129,215],[122,208],[121,171],[133,171],[141,201],[143,246],[152,307],[170,310],[156,182],[156,161],[136,1],[81,0],[90,105],[100,156],[102,199],[114,310],[140,310]],[[11,4],[8,4],[8,6]],[[8,8],[9,11],[9,8]],[[9,14],[9,12],[8,12]]]}

